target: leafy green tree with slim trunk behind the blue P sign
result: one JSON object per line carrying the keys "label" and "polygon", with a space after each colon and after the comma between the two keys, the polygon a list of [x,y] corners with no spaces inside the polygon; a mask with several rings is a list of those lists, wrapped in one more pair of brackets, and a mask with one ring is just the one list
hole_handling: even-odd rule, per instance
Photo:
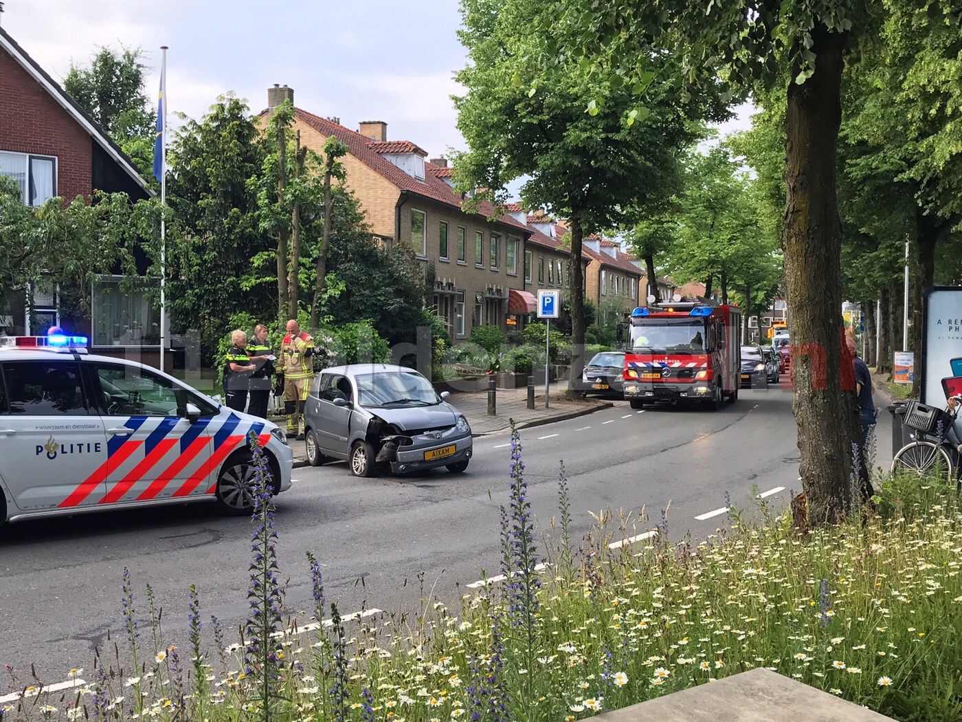
{"label": "leafy green tree with slim trunk behind the blue P sign", "polygon": [[[489,189],[482,195],[495,201],[523,177],[522,204],[570,220],[574,379],[584,363],[582,238],[627,224],[634,208],[662,197],[676,151],[694,140],[690,118],[705,108],[662,88],[649,89],[647,108],[636,107],[653,76],[610,83],[602,99],[581,67],[545,73],[537,51],[553,10],[536,0],[462,2],[470,64],[458,73],[468,92],[455,105],[470,152],[455,158],[455,175],[466,189]],[[641,119],[644,131],[629,127]]]}

